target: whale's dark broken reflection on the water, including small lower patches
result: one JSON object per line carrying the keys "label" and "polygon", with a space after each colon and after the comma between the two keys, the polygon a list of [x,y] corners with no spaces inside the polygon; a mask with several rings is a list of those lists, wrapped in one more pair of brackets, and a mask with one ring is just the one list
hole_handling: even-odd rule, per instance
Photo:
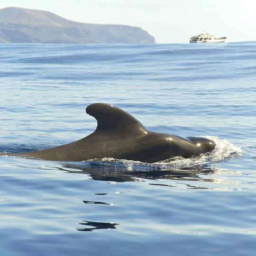
{"label": "whale's dark broken reflection on the water, including small lower patches", "polygon": [[[89,176],[89,179],[97,181],[111,182],[145,182],[146,180],[175,180],[175,181],[202,181],[202,182],[214,182],[209,174],[216,171],[209,166],[200,166],[198,168],[190,167],[183,169],[157,169],[157,168],[139,168],[138,166],[126,166],[126,165],[94,165],[92,163],[80,164],[64,164],[62,167],[58,167],[59,170],[71,173],[71,174],[85,174]],[[92,168],[91,168],[92,167]],[[205,177],[201,177],[201,175]],[[165,183],[148,183],[155,186],[176,187],[175,185]],[[179,183],[177,183],[179,184]],[[181,183],[180,183],[181,184]],[[193,186],[191,184],[183,183],[190,189],[209,189],[209,187]],[[107,193],[97,193],[97,195],[107,195]],[[111,203],[103,201],[85,201],[85,204],[92,205],[113,205]],[[79,223],[85,226],[92,226],[93,228],[77,228],[78,231],[93,231],[96,229],[116,229],[116,223],[112,222],[92,222],[83,221]]]}

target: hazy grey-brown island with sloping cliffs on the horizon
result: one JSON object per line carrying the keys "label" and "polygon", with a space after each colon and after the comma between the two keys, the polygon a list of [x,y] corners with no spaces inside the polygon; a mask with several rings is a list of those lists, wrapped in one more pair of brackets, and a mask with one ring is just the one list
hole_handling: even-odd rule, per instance
{"label": "hazy grey-brown island with sloping cliffs on the horizon", "polygon": [[154,44],[140,27],[75,22],[52,12],[17,7],[0,9],[0,43]]}

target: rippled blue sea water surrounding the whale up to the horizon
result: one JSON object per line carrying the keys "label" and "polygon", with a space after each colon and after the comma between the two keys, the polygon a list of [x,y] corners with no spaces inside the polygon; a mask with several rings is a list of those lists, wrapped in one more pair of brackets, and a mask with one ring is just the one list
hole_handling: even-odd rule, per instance
{"label": "rippled blue sea water surrounding the whale up to the horizon", "polygon": [[256,42],[0,45],[0,152],[89,135],[105,102],[216,149],[164,163],[0,156],[1,256],[255,256]]}

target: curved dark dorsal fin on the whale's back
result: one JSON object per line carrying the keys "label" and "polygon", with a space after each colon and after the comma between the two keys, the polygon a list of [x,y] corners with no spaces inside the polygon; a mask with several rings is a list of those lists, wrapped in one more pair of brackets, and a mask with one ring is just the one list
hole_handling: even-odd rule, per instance
{"label": "curved dark dorsal fin on the whale's back", "polygon": [[94,103],[86,108],[86,113],[98,121],[96,131],[115,131],[118,134],[145,134],[146,128],[133,116],[105,103]]}

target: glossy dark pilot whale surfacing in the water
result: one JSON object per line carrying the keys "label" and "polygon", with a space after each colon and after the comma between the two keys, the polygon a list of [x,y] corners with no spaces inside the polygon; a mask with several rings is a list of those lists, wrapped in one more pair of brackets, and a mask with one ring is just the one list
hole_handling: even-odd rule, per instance
{"label": "glossy dark pilot whale surfacing in the water", "polygon": [[[146,163],[210,152],[215,143],[204,137],[179,137],[147,130],[137,119],[105,103],[94,103],[86,113],[97,122],[96,130],[75,142],[18,155],[54,161],[84,161],[112,157]],[[17,155],[17,154],[16,154]]]}

